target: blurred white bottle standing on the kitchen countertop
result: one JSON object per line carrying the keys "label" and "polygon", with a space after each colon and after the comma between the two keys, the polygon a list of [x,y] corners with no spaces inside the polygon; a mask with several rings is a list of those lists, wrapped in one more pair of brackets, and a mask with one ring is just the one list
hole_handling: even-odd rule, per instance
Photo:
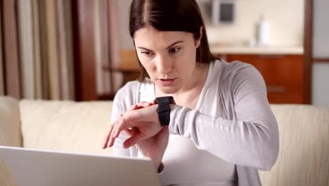
{"label": "blurred white bottle standing on the kitchen countertop", "polygon": [[259,16],[258,23],[258,46],[269,46],[269,23],[264,19],[264,15]]}

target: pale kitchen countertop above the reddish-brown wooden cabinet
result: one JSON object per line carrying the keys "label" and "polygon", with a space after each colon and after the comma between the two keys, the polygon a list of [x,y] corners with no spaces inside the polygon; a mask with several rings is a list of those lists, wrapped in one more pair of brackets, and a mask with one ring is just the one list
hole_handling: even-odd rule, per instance
{"label": "pale kitchen countertop above the reddish-brown wooden cabinet", "polygon": [[216,46],[210,45],[212,54],[304,54],[302,46]]}

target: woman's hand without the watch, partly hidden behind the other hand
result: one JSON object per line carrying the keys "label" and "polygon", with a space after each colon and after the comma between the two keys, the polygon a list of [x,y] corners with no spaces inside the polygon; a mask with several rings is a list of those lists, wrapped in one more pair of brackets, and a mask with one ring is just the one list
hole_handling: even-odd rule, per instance
{"label": "woman's hand without the watch, partly hidden behind the other hand", "polygon": [[[127,112],[134,111],[137,109],[143,109],[148,106],[152,106],[156,104],[156,101],[153,102],[140,102],[136,105],[133,105],[127,109]],[[124,114],[122,114],[123,116]],[[120,116],[121,117],[121,116]],[[122,130],[124,135],[127,135],[128,137],[134,136],[135,133],[138,132],[137,128],[131,128]],[[163,127],[160,132],[158,132],[153,137],[149,137],[146,140],[143,140],[141,142],[136,143],[136,147],[138,151],[141,151],[141,154],[143,154],[144,157],[149,157],[152,159],[154,165],[156,168],[159,168],[160,164],[162,163],[162,158],[164,155],[164,151],[167,149],[167,145],[169,142],[169,130],[167,127]],[[104,147],[107,144],[104,144]]]}

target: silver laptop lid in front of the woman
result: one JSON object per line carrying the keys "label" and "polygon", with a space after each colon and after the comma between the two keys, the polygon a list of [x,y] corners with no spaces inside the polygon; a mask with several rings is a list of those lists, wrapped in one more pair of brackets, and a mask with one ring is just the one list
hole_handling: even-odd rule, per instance
{"label": "silver laptop lid in front of the woman", "polygon": [[4,146],[0,159],[24,186],[160,185],[150,159]]}

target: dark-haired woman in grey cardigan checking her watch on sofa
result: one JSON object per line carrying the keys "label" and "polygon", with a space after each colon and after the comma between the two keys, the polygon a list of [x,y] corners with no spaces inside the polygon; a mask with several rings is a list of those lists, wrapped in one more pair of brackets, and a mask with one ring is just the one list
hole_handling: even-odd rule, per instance
{"label": "dark-haired woman in grey cardigan checking her watch on sofa", "polygon": [[117,92],[103,148],[150,157],[163,185],[261,185],[278,156],[262,75],[212,56],[194,0],[134,0],[129,30],[141,77]]}

